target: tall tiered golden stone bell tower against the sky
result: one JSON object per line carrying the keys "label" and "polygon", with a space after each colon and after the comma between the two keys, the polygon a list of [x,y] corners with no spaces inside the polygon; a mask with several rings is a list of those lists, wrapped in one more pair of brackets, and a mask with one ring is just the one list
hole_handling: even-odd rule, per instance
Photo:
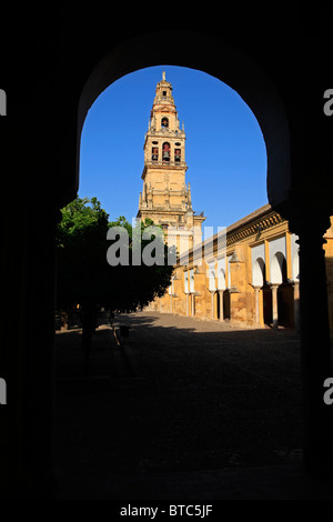
{"label": "tall tiered golden stone bell tower against the sky", "polygon": [[140,192],[137,217],[144,221],[150,218],[155,224],[168,230],[174,228],[178,252],[192,248],[202,241],[203,212],[192,209],[191,188],[186,184],[185,132],[180,128],[172,96],[172,86],[165,80],[165,72],[157,86],[148,132],[144,140],[143,190]]}

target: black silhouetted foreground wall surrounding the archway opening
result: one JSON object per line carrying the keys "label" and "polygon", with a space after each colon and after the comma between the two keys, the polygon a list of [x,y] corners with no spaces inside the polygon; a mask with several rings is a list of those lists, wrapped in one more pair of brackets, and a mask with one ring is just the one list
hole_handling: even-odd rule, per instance
{"label": "black silhouetted foreground wall surrounding the archway opening", "polygon": [[[216,76],[238,90],[261,124],[269,155],[269,200],[301,238],[304,461],[310,469],[326,465],[330,418],[322,406],[322,382],[330,360],[321,238],[333,214],[333,117],[323,110],[324,92],[333,88],[331,19],[327,2],[316,2],[309,12],[281,2],[262,9],[251,3],[223,6],[219,14],[186,6],[110,9],[110,3],[99,2],[77,8],[43,2],[3,11],[4,495],[51,491],[54,225],[59,208],[78,190],[85,113],[113,80],[158,63]],[[305,219],[311,229],[304,227]],[[313,267],[315,287],[310,282]]]}

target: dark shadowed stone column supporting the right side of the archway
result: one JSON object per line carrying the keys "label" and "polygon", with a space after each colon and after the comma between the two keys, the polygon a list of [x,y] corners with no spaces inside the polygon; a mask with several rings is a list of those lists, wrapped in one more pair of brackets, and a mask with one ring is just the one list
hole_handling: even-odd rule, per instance
{"label": "dark shadowed stone column supporting the right side of the archway", "polygon": [[330,327],[323,234],[330,220],[305,220],[297,231],[300,244],[301,379],[303,463],[309,471],[332,473],[332,406],[323,401],[330,368]]}

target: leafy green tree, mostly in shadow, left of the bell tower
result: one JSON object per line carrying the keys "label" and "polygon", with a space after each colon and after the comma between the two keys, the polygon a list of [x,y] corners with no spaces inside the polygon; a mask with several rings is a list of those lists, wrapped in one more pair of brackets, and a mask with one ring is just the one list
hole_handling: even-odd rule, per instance
{"label": "leafy green tree, mostly in shadow, left of the bell tower", "polygon": [[[137,235],[124,217],[109,222],[109,214],[97,198],[77,198],[62,209],[58,225],[58,310],[71,310],[78,304],[82,311],[82,345],[88,363],[95,318],[101,307],[110,312],[132,312],[163,295],[170,284],[172,267],[168,265],[168,247],[163,243],[163,264],[133,264]],[[154,240],[142,240],[153,222],[140,224],[140,254]],[[128,233],[129,264],[110,265],[107,251],[112,241],[108,230],[122,227]],[[115,239],[114,239],[115,241]],[[114,243],[113,241],[113,243]],[[161,260],[160,260],[161,261]]]}

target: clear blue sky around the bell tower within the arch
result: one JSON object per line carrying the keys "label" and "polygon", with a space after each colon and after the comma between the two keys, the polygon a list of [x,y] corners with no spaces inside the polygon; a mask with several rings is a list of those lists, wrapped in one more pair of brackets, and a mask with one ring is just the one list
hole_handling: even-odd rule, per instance
{"label": "clear blue sky around the bell tower within the arch", "polygon": [[186,182],[206,227],[228,227],[268,202],[266,151],[241,97],[194,69],[159,66],[122,77],[88,112],[81,137],[79,197],[97,197],[110,220],[137,215],[143,143],[162,71],[186,133]]}

